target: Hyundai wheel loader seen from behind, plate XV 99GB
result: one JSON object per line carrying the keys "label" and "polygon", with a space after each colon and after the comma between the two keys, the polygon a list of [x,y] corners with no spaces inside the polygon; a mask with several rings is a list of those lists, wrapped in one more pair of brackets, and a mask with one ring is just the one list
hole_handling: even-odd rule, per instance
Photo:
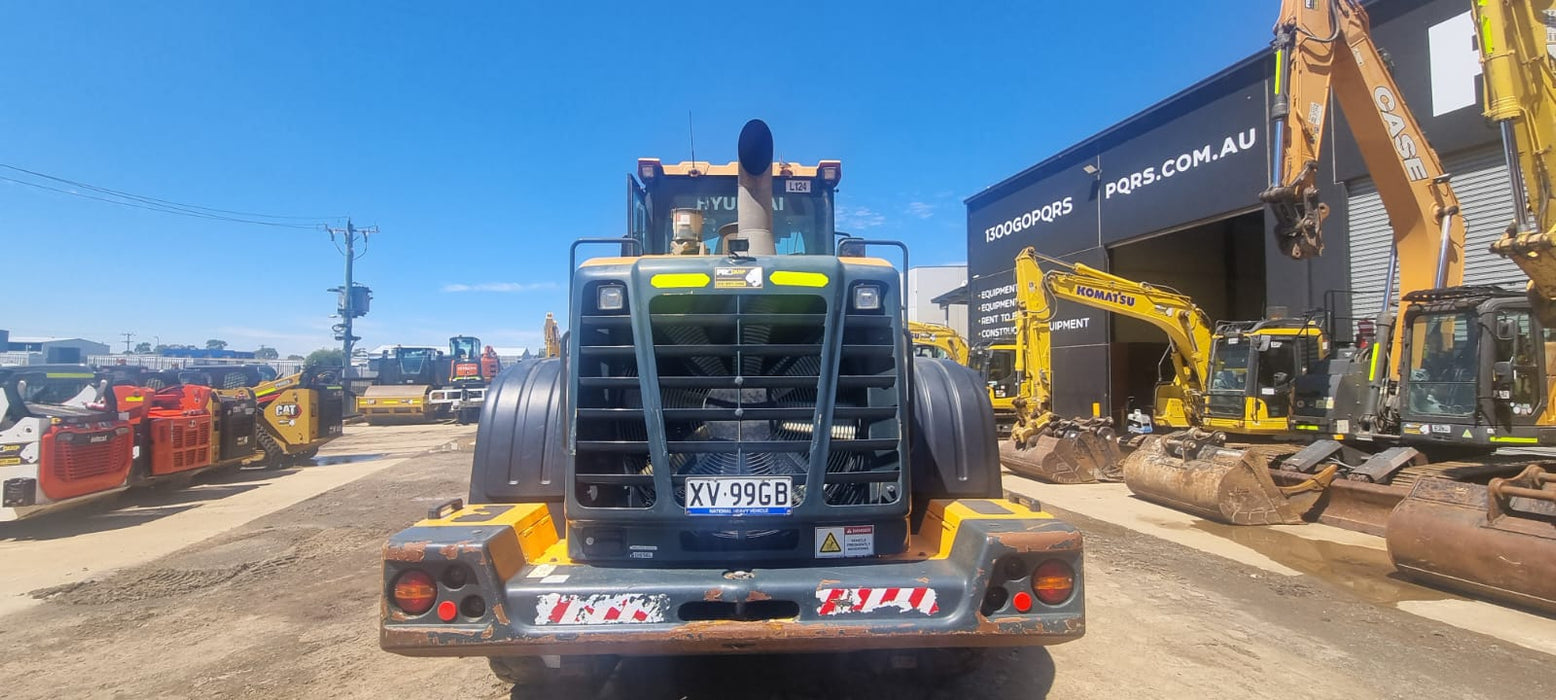
{"label": "Hyundai wheel loader seen from behind, plate XV 99GB", "polygon": [[1080,534],[1001,498],[979,376],[913,358],[902,275],[834,241],[842,165],[772,154],[752,121],[738,163],[638,162],[562,356],[487,395],[468,504],[384,548],[386,650],[535,683],[1083,633]]}

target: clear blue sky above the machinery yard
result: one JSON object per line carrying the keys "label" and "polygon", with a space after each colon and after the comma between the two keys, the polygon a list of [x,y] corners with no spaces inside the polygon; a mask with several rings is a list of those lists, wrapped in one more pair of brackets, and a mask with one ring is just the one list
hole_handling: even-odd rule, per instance
{"label": "clear blue sky above the machinery yard", "polygon": [[[640,156],[843,160],[840,227],[966,260],[962,199],[1263,48],[1274,2],[8,2],[0,163],[377,224],[364,345],[537,345]],[[748,48],[744,48],[748,47]],[[22,177],[0,170],[0,176]],[[319,230],[0,182],[12,334],[335,345]],[[121,347],[121,345],[115,345]]]}

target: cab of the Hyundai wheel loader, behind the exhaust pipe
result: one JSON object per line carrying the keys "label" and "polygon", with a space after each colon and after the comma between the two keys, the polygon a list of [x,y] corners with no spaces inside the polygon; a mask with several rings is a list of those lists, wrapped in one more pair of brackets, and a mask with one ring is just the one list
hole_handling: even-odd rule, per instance
{"label": "cab of the Hyundai wheel loader, behind the exhaust pipe", "polygon": [[[720,230],[736,219],[736,168],[739,163],[638,160],[636,173],[627,176],[629,235],[641,241],[643,252],[649,255],[685,250],[677,247],[677,221],[672,215],[677,210],[697,210],[700,221],[683,218],[680,224],[692,224],[702,254],[727,254]],[[832,201],[842,163],[773,163],[772,174],[772,232],[778,255],[836,255]]]}

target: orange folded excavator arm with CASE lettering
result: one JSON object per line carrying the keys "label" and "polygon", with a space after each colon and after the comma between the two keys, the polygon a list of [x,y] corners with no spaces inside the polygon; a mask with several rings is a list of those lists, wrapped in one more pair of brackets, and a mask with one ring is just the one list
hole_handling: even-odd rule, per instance
{"label": "orange folded excavator arm with CASE lettering", "polygon": [[[1281,252],[1307,258],[1324,250],[1318,201],[1318,154],[1330,92],[1362,151],[1394,229],[1399,289],[1433,289],[1464,282],[1464,219],[1442,162],[1372,44],[1360,0],[1284,0],[1274,26],[1270,131],[1274,148],[1270,205]],[[1391,272],[1393,275],[1393,266]],[[1393,280],[1385,299],[1399,302]],[[1390,372],[1399,367],[1399,333]]]}

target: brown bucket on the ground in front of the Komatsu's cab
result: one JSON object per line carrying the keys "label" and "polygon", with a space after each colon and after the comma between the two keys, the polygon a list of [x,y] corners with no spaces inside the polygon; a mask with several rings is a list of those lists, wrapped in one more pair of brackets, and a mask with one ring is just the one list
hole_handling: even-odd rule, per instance
{"label": "brown bucket on the ground in front of the Komatsu's cab", "polygon": [[1226,524],[1299,524],[1333,481],[1337,467],[1281,487],[1253,450],[1221,446],[1225,436],[1184,431],[1151,437],[1123,460],[1136,496]]}

